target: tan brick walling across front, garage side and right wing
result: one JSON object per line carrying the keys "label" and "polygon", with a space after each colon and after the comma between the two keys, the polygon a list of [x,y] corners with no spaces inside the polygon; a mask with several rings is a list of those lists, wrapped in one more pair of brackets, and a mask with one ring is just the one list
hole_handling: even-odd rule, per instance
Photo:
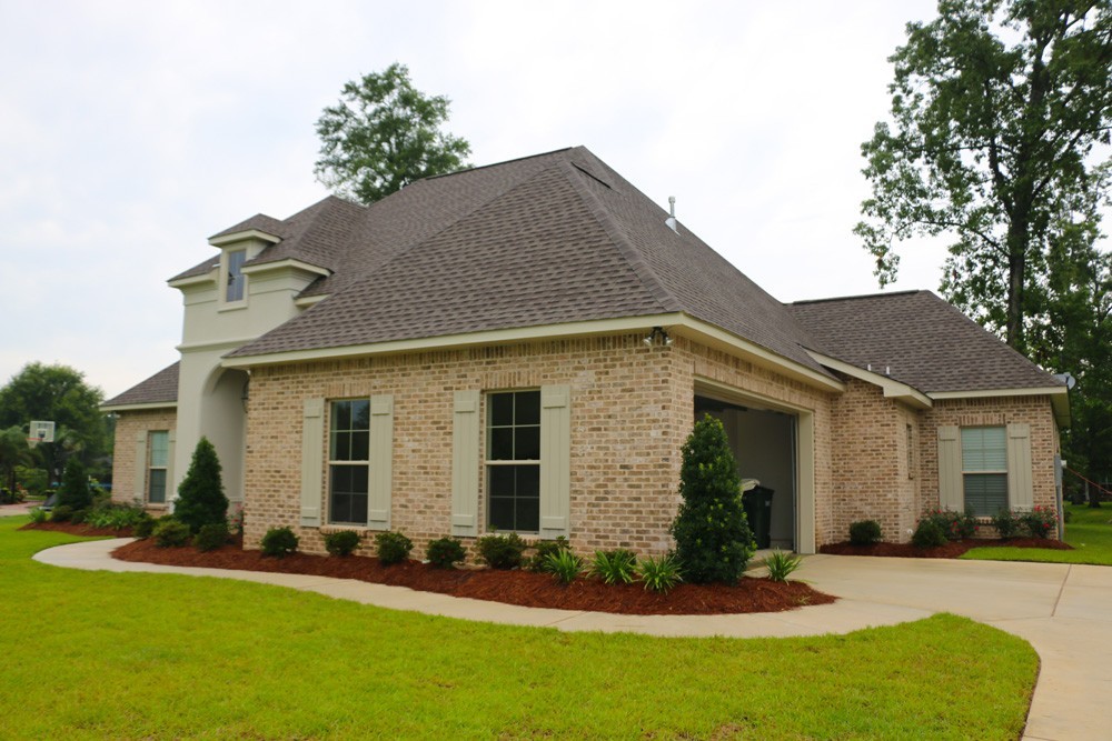
{"label": "tan brick walling across front, garage side and right wing", "polygon": [[[582,553],[628,548],[659,554],[672,547],[667,530],[678,505],[679,449],[703,381],[811,412],[816,545],[845,540],[850,523],[861,519],[878,520],[885,540],[906,542],[920,513],[937,501],[939,424],[1029,422],[1035,503],[1053,503],[1050,461],[1056,430],[1045,398],[937,402],[923,412],[885,399],[862,381],[848,380],[844,394],[825,392],[685,338],[652,348],[643,339],[635,333],[254,369],[246,547],[257,548],[269,528],[289,525],[302,550],[324,552],[322,533],[348,529],[299,524],[305,400],[394,397],[391,529],[413,539],[414,554],[420,555],[429,540],[451,530],[454,392],[547,384],[572,388],[570,534]],[[485,397],[479,413],[485,431]],[[327,460],[325,437],[320,444]],[[122,439],[133,440],[133,434]],[[321,481],[327,513],[326,470]],[[480,532],[483,487],[485,475]],[[371,542],[368,537],[364,554],[373,553]]]}

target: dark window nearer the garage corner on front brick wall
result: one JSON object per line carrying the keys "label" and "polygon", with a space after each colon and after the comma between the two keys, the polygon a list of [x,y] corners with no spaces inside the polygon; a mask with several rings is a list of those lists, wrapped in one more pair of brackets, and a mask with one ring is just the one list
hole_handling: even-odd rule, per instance
{"label": "dark window nearer the garage corner on front brick wall", "polygon": [[489,527],[540,530],[540,391],[487,395]]}

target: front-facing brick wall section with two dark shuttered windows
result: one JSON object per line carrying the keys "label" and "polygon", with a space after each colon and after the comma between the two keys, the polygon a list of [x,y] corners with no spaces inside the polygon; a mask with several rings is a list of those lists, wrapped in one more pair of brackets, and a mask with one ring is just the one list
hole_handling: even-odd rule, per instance
{"label": "front-facing brick wall section with two dark shuttered windows", "polygon": [[[299,525],[301,472],[295,451],[300,450],[306,399],[393,394],[391,529],[413,539],[419,554],[429,540],[450,532],[454,392],[568,384],[573,542],[585,552],[666,551],[667,528],[678,503],[679,448],[693,419],[691,373],[681,353],[647,348],[643,338],[638,333],[255,369],[247,417],[245,544],[257,548],[268,528],[289,525],[304,550],[324,551],[320,531]],[[486,419],[485,399],[480,419]],[[322,481],[327,492],[326,478]],[[327,493],[325,500],[322,505]],[[479,512],[486,512],[481,491]]]}

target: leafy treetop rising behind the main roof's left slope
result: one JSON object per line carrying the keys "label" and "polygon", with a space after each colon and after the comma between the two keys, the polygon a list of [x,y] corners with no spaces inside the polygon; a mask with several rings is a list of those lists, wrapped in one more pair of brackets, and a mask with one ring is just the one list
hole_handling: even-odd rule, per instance
{"label": "leafy treetop rising behind the main roof's left slope", "polygon": [[317,180],[369,204],[420,178],[458,170],[471,148],[440,130],[449,102],[414,88],[408,68],[397,62],[348,82],[340,102],[317,120]]}

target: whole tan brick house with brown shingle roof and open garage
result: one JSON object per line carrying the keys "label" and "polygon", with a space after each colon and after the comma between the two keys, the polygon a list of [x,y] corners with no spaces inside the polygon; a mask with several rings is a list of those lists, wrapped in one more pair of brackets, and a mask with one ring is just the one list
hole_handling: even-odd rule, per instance
{"label": "whole tan brick house with brown shingle roof and open garage", "polygon": [[496,528],[661,553],[703,413],[802,553],[1056,505],[1058,379],[927,291],[781,303],[582,147],[209,243],[169,281],[180,361],[105,404],[115,490],[168,507],[205,434],[249,548]]}

